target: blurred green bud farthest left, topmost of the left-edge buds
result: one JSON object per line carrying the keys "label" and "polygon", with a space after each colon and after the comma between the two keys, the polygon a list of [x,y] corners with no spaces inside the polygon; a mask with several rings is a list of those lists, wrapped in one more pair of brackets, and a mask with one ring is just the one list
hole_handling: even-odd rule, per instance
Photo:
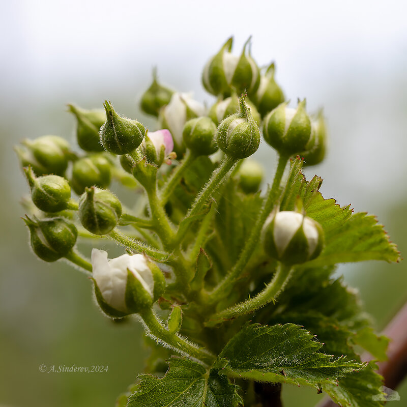
{"label": "blurred green bud farthest left, topmost of the left-edge buds", "polygon": [[31,165],[37,176],[64,175],[68,167],[69,143],[59,136],[41,136],[34,140],[24,140],[23,147],[16,147],[21,165]]}

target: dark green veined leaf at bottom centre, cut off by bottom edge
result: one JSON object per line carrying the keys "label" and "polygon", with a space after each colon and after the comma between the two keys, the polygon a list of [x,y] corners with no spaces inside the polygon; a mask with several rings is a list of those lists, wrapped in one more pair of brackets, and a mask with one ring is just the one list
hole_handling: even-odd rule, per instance
{"label": "dark green veined leaf at bottom centre, cut off by bottom edge", "polygon": [[207,370],[188,359],[170,358],[162,379],[139,375],[138,390],[128,407],[236,407],[242,400],[237,389],[218,369]]}

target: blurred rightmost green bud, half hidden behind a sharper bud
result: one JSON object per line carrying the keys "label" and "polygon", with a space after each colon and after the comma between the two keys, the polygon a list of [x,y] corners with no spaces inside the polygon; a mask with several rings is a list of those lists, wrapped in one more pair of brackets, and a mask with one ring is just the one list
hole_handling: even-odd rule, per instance
{"label": "blurred rightmost green bud, half hidden behind a sharper bud", "polygon": [[327,144],[327,128],[322,111],[319,111],[316,120],[311,119],[311,138],[305,151],[299,155],[304,157],[304,165],[316,165],[325,158]]}

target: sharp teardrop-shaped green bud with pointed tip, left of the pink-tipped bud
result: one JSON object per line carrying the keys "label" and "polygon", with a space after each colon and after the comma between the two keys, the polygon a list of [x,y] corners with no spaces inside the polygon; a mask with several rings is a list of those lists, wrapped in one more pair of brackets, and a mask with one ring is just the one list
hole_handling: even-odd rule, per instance
{"label": "sharp teardrop-shaped green bud with pointed tip, left of the pink-tipped bud", "polygon": [[119,116],[107,100],[103,106],[106,123],[100,129],[100,139],[104,149],[113,154],[127,154],[135,150],[143,140],[144,126],[137,120]]}

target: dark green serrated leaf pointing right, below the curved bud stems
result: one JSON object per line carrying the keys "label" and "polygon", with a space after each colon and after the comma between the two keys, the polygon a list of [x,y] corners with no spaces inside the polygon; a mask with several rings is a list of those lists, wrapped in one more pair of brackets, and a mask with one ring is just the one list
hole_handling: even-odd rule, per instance
{"label": "dark green serrated leaf pointing right, below the curved bud stems", "polygon": [[322,344],[314,335],[294,324],[248,325],[224,347],[219,358],[229,361],[224,369],[243,379],[281,382],[321,388],[336,384],[339,377],[363,368],[364,364],[333,359],[319,352]]}

